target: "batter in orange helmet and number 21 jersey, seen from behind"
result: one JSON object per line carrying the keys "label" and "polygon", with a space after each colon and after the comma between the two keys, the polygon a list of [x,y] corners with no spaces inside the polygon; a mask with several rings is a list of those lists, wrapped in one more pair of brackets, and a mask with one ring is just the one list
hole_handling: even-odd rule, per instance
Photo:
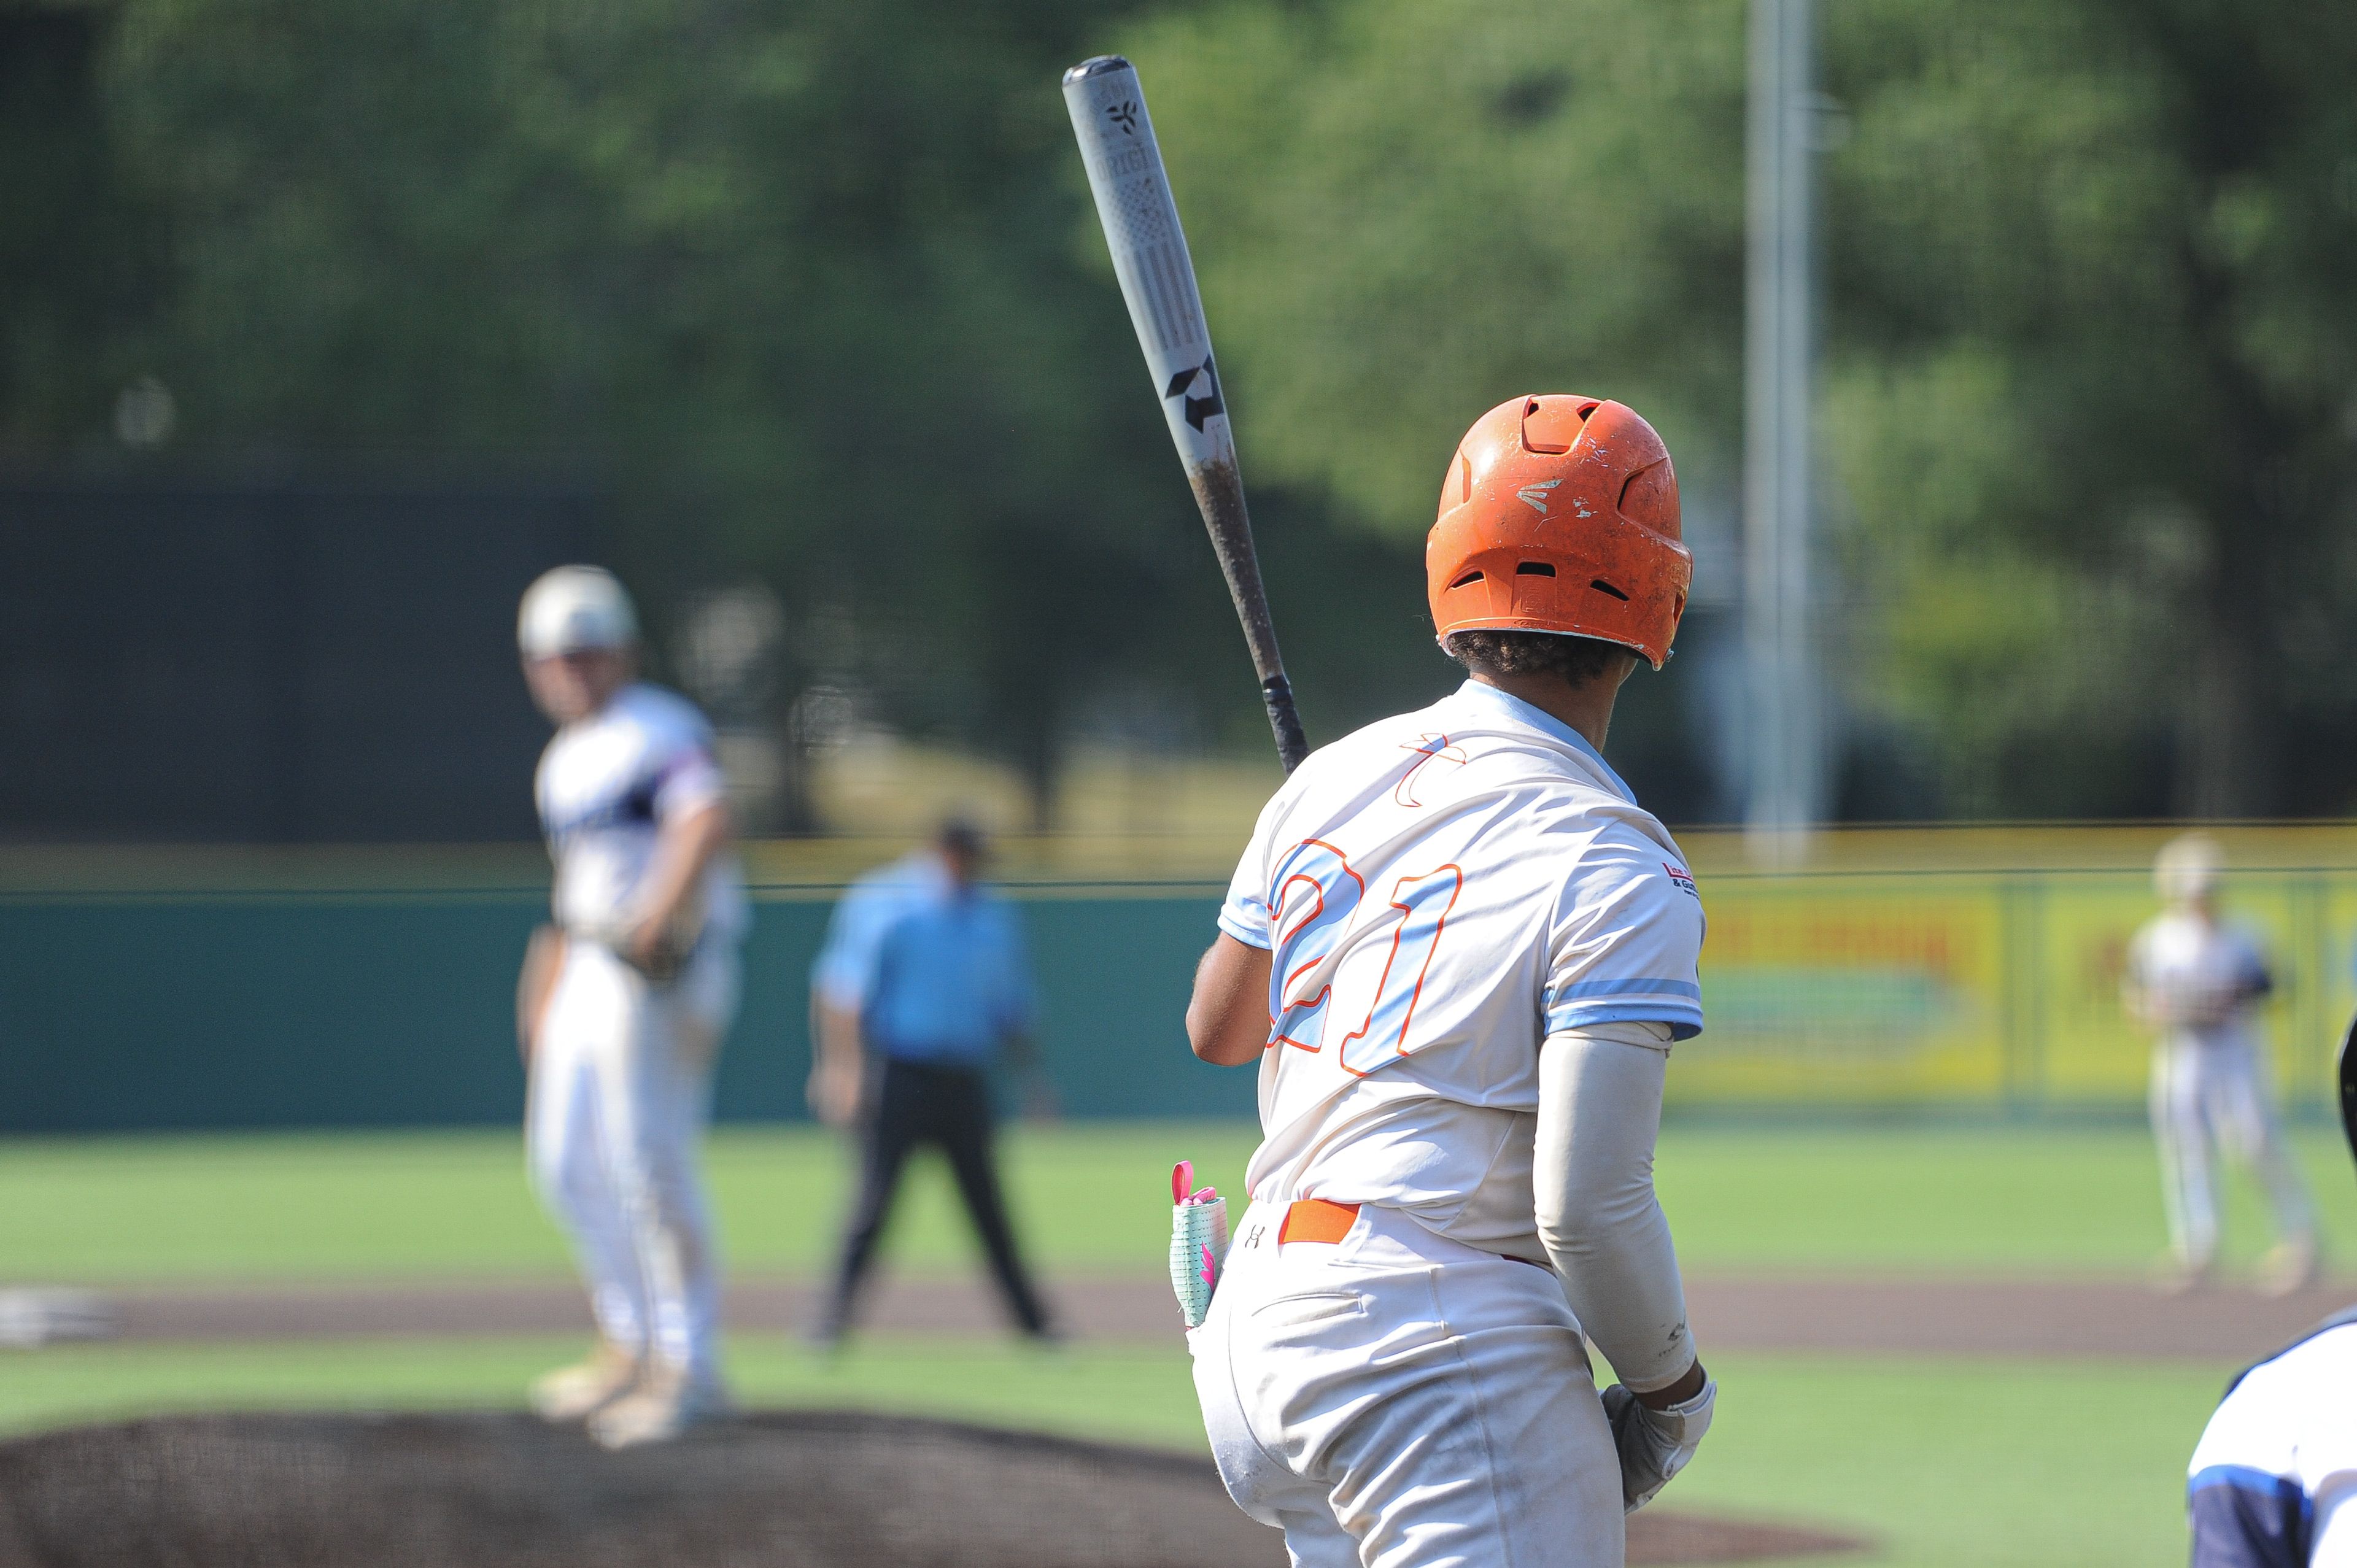
{"label": "batter in orange helmet and number 21 jersey, seen from behind", "polygon": [[1501,403],[1426,578],[1471,679],[1301,764],[1195,974],[1195,1054],[1261,1063],[1266,1134],[1195,1389],[1294,1563],[1622,1563],[1716,1398],[1652,1191],[1702,901],[1600,755],[1692,578],[1662,439]]}

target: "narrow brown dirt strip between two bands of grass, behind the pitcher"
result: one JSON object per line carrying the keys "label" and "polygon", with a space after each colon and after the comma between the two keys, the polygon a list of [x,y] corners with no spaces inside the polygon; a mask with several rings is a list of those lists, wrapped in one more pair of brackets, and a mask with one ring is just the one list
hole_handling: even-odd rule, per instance
{"label": "narrow brown dirt strip between two bands of grass, behind the pitcher", "polygon": [[[2246,1290],[2159,1297],[2133,1280],[1782,1280],[1688,1283],[1695,1335],[1728,1351],[2256,1358],[2348,1306],[2357,1290],[2326,1285],[2286,1299]],[[1058,1280],[1056,1306],[1089,1339],[1178,1337],[1169,1285],[1157,1278]],[[797,1330],[816,1297],[794,1280],[731,1285],[738,1330]],[[502,1335],[589,1327],[566,1283],[443,1287],[139,1290],[108,1302],[125,1339],[313,1339],[349,1335]],[[867,1325],[995,1332],[1004,1316],[976,1283],[896,1280]]]}

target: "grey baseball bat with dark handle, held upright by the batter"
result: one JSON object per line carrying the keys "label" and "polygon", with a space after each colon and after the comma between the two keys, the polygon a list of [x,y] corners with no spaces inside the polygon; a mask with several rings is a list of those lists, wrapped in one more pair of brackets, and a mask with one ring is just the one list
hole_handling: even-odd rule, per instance
{"label": "grey baseball bat with dark handle, held upright by the batter", "polygon": [[1277,757],[1292,773],[1310,745],[1301,736],[1294,689],[1285,679],[1277,630],[1268,618],[1261,556],[1252,547],[1252,516],[1244,512],[1244,479],[1235,469],[1228,398],[1211,361],[1195,262],[1186,252],[1178,203],[1162,172],[1162,149],[1155,144],[1136,66],[1120,54],[1080,61],[1063,73],[1063,106],[1072,113],[1080,158],[1089,167],[1089,193],[1096,196],[1096,217],[1113,250],[1113,276],[1122,281],[1122,299],[1129,302],[1129,325],[1138,330],[1162,417],[1178,446],[1178,462],[1186,465],[1202,526],[1211,531],[1211,552],[1228,580],[1235,618],[1244,625]]}

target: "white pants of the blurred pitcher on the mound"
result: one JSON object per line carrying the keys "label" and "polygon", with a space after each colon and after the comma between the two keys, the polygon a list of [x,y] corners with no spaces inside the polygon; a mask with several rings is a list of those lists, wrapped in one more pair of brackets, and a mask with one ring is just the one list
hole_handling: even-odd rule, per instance
{"label": "white pants of the blurred pitcher on the mound", "polygon": [[523,1148],[566,1228],[599,1332],[691,1375],[717,1370],[719,1259],[700,1151],[738,955],[712,943],[672,986],[575,941],[533,1049]]}

